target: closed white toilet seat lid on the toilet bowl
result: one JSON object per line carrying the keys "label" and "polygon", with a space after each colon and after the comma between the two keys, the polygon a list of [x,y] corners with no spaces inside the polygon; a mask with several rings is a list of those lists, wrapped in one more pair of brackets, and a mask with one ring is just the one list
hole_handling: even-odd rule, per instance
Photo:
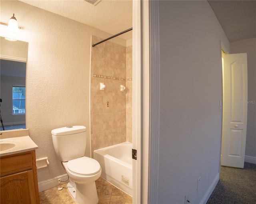
{"label": "closed white toilet seat lid on the toilet bowl", "polygon": [[86,156],[68,161],[67,167],[74,174],[87,176],[97,174],[100,171],[99,162]]}

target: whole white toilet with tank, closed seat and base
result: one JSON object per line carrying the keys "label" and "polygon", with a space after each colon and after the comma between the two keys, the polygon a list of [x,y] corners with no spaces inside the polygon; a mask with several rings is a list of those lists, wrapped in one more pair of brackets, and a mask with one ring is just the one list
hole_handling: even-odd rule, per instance
{"label": "whole white toilet with tank, closed seat and base", "polygon": [[101,167],[96,160],[84,156],[86,127],[68,126],[52,130],[52,141],[58,159],[69,176],[68,192],[78,204],[96,204],[98,195],[95,181]]}

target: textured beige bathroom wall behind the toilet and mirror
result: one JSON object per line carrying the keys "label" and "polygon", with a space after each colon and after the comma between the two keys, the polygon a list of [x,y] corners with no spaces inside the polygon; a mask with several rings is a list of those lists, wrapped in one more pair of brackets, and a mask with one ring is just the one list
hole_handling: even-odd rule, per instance
{"label": "textured beige bathroom wall behind the toilet and mirror", "polygon": [[[51,130],[68,125],[87,127],[86,156],[90,156],[91,35],[110,34],[20,1],[0,1],[1,22],[14,13],[18,40],[28,42],[26,127],[38,145],[36,158],[49,157],[38,170],[38,182],[65,174],[52,144]],[[0,36],[4,36],[0,29]],[[120,38],[114,42],[126,45]]]}

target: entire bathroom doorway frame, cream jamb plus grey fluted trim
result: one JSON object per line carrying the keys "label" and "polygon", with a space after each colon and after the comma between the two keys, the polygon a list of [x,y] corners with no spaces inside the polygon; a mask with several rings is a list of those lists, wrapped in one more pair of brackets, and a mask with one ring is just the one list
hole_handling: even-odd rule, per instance
{"label": "entire bathroom doorway frame, cream jamb plus grey fluted trim", "polygon": [[[155,133],[158,132],[157,127],[159,125],[158,119],[156,120],[154,117],[158,115],[157,102],[159,100],[158,95],[156,95],[159,87],[158,46],[155,44],[155,40],[158,39],[158,29],[152,28],[152,22],[154,25],[158,25],[157,5],[157,1],[133,0],[132,121],[133,148],[137,149],[137,160],[133,161],[134,204],[154,203],[150,196],[156,196],[157,193],[157,171],[155,169],[158,168],[158,150],[156,148],[158,143],[152,143],[153,140],[158,140],[158,134]],[[151,56],[155,58],[151,59]],[[156,66],[152,67],[152,62],[155,62],[154,65]],[[152,126],[153,124],[154,126]],[[152,190],[153,195],[150,194]]]}

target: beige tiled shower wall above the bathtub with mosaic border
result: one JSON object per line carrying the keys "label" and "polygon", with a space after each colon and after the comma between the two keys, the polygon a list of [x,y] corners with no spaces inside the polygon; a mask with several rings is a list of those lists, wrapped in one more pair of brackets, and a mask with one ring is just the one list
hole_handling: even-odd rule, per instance
{"label": "beige tiled shower wall above the bathtub with mosaic border", "polygon": [[[92,44],[101,40],[92,36]],[[106,41],[92,47],[90,98],[92,156],[96,149],[132,142],[132,46]]]}

